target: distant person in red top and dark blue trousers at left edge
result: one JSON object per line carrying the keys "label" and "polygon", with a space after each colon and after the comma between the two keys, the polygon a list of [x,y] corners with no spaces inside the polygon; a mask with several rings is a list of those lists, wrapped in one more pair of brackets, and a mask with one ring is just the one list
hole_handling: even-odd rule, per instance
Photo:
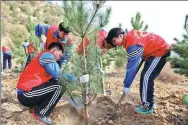
{"label": "distant person in red top and dark blue trousers at left edge", "polygon": [[8,47],[2,46],[2,52],[3,52],[3,70],[7,68],[12,68],[12,53]]}

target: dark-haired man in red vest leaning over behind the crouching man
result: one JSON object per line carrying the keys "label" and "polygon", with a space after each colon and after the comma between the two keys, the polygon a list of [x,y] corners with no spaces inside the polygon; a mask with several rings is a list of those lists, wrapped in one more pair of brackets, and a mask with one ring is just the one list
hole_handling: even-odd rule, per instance
{"label": "dark-haired man in red vest leaning over behind the crouching man", "polygon": [[[59,23],[59,26],[37,24],[35,27],[35,35],[40,41],[41,48],[47,49],[52,41],[60,42],[63,45],[64,56],[58,61],[58,64],[62,67],[67,64],[72,54],[73,41],[69,33],[69,27],[65,26],[63,22]],[[46,43],[43,42],[41,35],[46,36]]]}

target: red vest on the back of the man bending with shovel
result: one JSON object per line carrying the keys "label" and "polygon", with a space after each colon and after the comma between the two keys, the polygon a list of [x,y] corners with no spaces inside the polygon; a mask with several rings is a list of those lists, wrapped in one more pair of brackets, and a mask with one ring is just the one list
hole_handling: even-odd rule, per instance
{"label": "red vest on the back of the man bending with shovel", "polygon": [[132,45],[141,45],[144,47],[143,58],[147,59],[151,56],[164,56],[170,46],[158,35],[138,30],[131,30],[124,36],[123,47],[128,49]]}

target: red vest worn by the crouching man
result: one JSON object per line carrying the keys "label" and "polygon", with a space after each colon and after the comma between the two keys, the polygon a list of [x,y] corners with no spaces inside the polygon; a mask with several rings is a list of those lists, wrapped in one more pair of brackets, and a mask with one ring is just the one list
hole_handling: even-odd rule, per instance
{"label": "red vest worn by the crouching man", "polygon": [[52,76],[50,76],[46,72],[45,68],[42,67],[39,63],[39,58],[44,52],[50,52],[50,51],[49,50],[42,51],[37,57],[35,57],[28,64],[28,66],[22,72],[17,83],[18,89],[24,91],[31,91],[33,87],[44,84],[52,78]]}

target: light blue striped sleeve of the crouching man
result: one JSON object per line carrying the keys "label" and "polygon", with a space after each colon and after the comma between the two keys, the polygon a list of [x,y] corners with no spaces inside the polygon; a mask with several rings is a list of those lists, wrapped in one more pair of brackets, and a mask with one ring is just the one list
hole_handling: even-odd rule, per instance
{"label": "light blue striped sleeve of the crouching man", "polygon": [[55,79],[61,76],[61,69],[57,64],[54,55],[49,52],[42,54],[39,58],[39,63],[46,69],[46,71]]}

